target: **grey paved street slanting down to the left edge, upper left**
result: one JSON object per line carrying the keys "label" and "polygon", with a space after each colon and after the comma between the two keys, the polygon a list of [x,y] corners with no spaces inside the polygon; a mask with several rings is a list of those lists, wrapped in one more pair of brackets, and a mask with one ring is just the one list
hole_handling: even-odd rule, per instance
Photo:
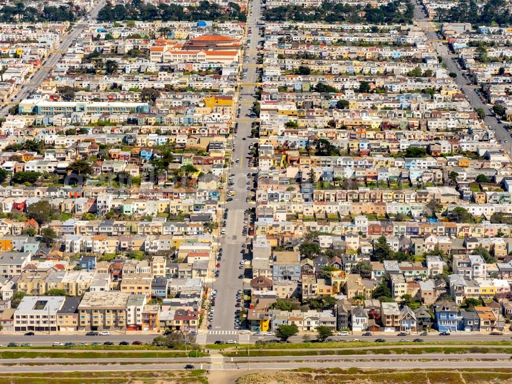
{"label": "grey paved street slanting down to the left edge, upper left", "polygon": [[[96,18],[99,10],[103,8],[105,3],[106,0],[99,0],[99,2],[96,3],[91,11],[89,11],[89,13],[84,16],[82,21],[76,24],[66,36],[62,37],[62,42],[58,46],[57,50],[67,50],[71,46],[73,40],[80,35],[86,26],[88,26],[86,18]],[[25,99],[30,92],[36,90],[37,87],[39,87],[40,84],[48,77],[48,74],[53,70],[53,68],[55,68],[61,57],[61,53],[55,52],[52,57],[47,58],[46,61],[42,63],[41,68],[35,72],[32,79],[30,79],[30,81],[25,85],[25,88],[21,89],[17,93],[14,100],[10,104],[4,105],[2,108],[0,108],[0,117],[7,116],[9,114],[9,108],[11,108],[12,103],[19,103],[21,100]],[[43,69],[42,67],[47,68]]]}

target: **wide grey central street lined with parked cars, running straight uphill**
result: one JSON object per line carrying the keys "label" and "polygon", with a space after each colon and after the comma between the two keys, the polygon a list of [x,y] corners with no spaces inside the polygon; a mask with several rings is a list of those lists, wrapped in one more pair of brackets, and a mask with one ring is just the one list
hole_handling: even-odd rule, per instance
{"label": "wide grey central street lined with parked cars, running straight uphill", "polygon": [[[261,5],[260,0],[254,0],[249,15],[249,24],[252,25],[252,35],[249,36],[251,40],[250,51],[254,52],[258,45],[258,34],[255,29],[254,23],[260,17]],[[246,31],[247,32],[247,31]],[[245,44],[245,41],[244,41]],[[255,65],[256,56],[250,53],[249,63]],[[246,79],[240,79],[244,83],[252,83],[257,81],[257,74],[255,74],[254,66],[249,66]],[[207,343],[213,343],[215,340],[226,341],[229,339],[238,341],[238,331],[234,329],[236,293],[239,289],[248,288],[249,276],[245,270],[240,269],[240,262],[242,258],[249,263],[249,255],[241,253],[242,244],[247,242],[247,237],[242,234],[244,228],[244,210],[249,207],[249,203],[245,200],[249,197],[247,186],[253,187],[253,179],[248,177],[249,173],[254,172],[254,168],[248,166],[246,159],[249,152],[249,144],[255,142],[250,139],[251,124],[247,122],[246,114],[250,113],[252,102],[254,98],[254,86],[240,87],[240,100],[241,112],[240,121],[238,122],[237,137],[232,137],[235,144],[235,149],[231,155],[233,164],[228,169],[229,174],[234,174],[234,192],[235,196],[233,201],[224,204],[224,207],[229,209],[227,226],[225,227],[226,234],[221,238],[220,246],[223,249],[223,260],[220,262],[220,276],[212,284],[213,288],[217,290],[217,300],[214,312],[214,321],[212,329],[207,335]],[[244,140],[243,138],[246,138]],[[240,161],[237,162],[236,160]],[[250,184],[247,185],[247,181]],[[239,279],[239,275],[244,274],[245,279]]]}

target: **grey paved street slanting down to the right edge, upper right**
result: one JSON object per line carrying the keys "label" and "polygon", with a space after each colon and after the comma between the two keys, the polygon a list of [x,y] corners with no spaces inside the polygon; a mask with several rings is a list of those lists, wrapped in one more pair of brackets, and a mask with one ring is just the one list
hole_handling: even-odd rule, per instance
{"label": "grey paved street slanting down to the right edge, upper right", "polygon": [[[470,102],[474,109],[482,108],[485,111],[485,125],[491,126],[492,130],[496,134],[496,139],[501,140],[503,142],[502,147],[504,148],[504,150],[510,153],[510,150],[512,148],[512,138],[510,137],[510,133],[508,133],[503,128],[503,124],[498,123],[496,117],[490,115],[489,108],[491,107],[491,104],[487,104],[484,101],[480,100],[478,95],[475,93],[475,90],[477,90],[478,87],[472,84],[468,84],[469,81],[462,76],[463,73],[467,74],[467,72],[457,67],[456,61],[453,60],[453,58],[457,57],[457,55],[452,54],[448,47],[446,45],[443,45],[437,39],[437,35],[435,32],[433,32],[432,30],[428,30],[426,28],[427,22],[429,22],[430,20],[426,17],[425,12],[418,3],[415,3],[414,19],[418,22],[418,24],[421,27],[425,29],[425,34],[429,38],[429,40],[433,42],[433,47],[436,49],[437,54],[440,55],[443,58],[443,61],[446,63],[447,71],[449,73],[455,72],[457,74],[455,82],[457,83],[458,88],[464,91],[467,100]],[[509,141],[509,143],[505,143],[505,140]]]}

